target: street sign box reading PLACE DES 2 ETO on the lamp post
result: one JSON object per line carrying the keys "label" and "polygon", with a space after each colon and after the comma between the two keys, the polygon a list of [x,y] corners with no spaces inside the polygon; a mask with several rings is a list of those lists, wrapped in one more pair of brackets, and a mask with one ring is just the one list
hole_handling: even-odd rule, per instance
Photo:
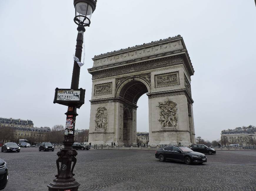
{"label": "street sign box reading PLACE DES 2 ETO on the lamp post", "polygon": [[84,104],[85,90],[80,89],[55,89],[55,96],[53,103],[59,103],[61,105],[77,106],[80,108]]}

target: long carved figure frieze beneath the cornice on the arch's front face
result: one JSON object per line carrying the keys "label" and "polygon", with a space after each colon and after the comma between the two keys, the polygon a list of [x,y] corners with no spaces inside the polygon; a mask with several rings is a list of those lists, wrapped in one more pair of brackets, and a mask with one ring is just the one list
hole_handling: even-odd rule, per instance
{"label": "long carved figure frieze beneath the cornice on the arch's front face", "polygon": [[116,68],[113,70],[106,70],[100,73],[92,73],[92,79],[106,78],[111,76],[117,76],[122,74],[129,74],[138,71],[162,68],[166,66],[172,66],[175,64],[181,64],[184,60],[182,58],[169,59],[166,61],[154,62],[154,63],[144,63],[144,64],[133,64],[128,65],[123,68]]}

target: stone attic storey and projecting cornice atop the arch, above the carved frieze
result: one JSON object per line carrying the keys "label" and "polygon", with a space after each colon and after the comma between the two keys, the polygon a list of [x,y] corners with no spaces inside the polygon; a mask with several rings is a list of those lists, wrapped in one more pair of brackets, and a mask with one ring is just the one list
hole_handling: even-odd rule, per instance
{"label": "stone attic storey and projecting cornice atop the arch, above the carved frieze", "polygon": [[189,54],[185,47],[183,38],[179,36],[168,38],[165,40],[159,40],[132,48],[121,49],[119,51],[114,51],[106,54],[101,54],[93,58],[93,67],[88,69],[89,73],[107,69],[110,67],[116,67],[119,65],[124,65],[128,63],[135,63],[138,61],[146,61],[149,59],[159,59],[163,57],[174,56],[175,54],[182,52],[183,59],[186,62],[185,66],[189,71],[188,74],[192,76],[194,74],[194,69],[189,58]]}

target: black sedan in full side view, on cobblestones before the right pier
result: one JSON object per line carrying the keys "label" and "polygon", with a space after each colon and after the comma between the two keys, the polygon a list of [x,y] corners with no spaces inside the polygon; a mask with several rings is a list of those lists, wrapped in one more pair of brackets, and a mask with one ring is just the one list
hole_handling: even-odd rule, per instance
{"label": "black sedan in full side view, on cobblestones before the right pier", "polygon": [[207,162],[204,154],[194,152],[185,146],[165,146],[164,148],[156,150],[155,157],[162,162],[166,159],[183,161],[186,164]]}

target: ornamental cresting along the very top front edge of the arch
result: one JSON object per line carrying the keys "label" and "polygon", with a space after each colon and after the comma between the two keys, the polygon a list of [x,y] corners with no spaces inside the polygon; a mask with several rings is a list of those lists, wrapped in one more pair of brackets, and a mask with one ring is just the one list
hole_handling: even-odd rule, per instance
{"label": "ornamental cresting along the very top front edge of the arch", "polygon": [[114,50],[112,52],[107,52],[107,53],[104,53],[104,54],[99,54],[97,56],[95,55],[94,58],[92,58],[92,59],[95,60],[97,58],[106,57],[106,56],[109,56],[109,55],[112,55],[112,54],[118,54],[118,53],[122,53],[122,52],[132,51],[132,50],[135,50],[135,49],[138,49],[138,48],[147,47],[147,46],[151,46],[151,45],[156,45],[156,44],[159,44],[159,43],[168,42],[170,40],[174,40],[174,39],[178,39],[178,38],[181,38],[181,36],[177,35],[177,36],[169,37],[169,38],[166,38],[166,39],[163,39],[163,40],[160,39],[160,40],[157,40],[157,41],[152,41],[152,42],[149,42],[149,43],[144,43],[143,45],[136,45],[136,46],[133,46],[133,47],[128,47],[128,48],[124,48],[124,49],[120,49],[120,50]]}

